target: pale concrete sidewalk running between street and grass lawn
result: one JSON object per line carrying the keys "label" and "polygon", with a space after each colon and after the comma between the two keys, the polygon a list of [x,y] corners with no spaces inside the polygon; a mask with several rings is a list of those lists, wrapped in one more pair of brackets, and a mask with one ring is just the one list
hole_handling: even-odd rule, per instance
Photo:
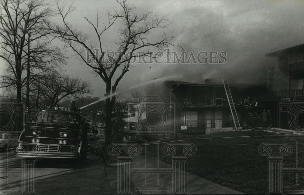
{"label": "pale concrete sidewalk running between street and grass lawn", "polygon": [[[125,165],[125,168],[130,165]],[[150,169],[146,173],[143,169]],[[168,165],[151,156],[141,153],[139,156],[134,156],[131,164],[131,179],[133,194],[172,194],[173,192],[173,173],[162,173],[158,170],[170,170],[171,165]],[[117,185],[117,167],[106,167],[109,180],[112,185]],[[138,171],[141,170],[141,171]],[[157,170],[157,171],[155,171]],[[173,170],[173,169],[172,169]],[[181,170],[179,170],[181,171]],[[181,174],[185,173],[181,171]],[[212,183],[190,173],[187,174],[187,193],[188,194],[243,194],[236,190]],[[125,181],[123,181],[125,182]],[[117,191],[118,192],[118,191]],[[183,194],[183,193],[182,193]]]}

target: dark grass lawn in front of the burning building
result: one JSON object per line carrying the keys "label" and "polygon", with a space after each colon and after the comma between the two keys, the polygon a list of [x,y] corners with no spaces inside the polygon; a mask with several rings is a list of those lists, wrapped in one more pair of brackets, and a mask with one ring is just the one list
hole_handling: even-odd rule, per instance
{"label": "dark grass lawn in front of the burning building", "polygon": [[[295,140],[287,139],[288,137],[296,139],[298,144]],[[292,145],[293,152],[284,157],[283,168],[296,167],[296,145],[298,145],[298,167],[304,167],[304,137],[302,136],[285,137],[282,134],[244,131],[216,133],[201,138],[190,138],[191,140],[186,138],[187,141],[181,141],[181,143],[193,143],[197,148],[196,154],[188,157],[188,172],[243,193],[268,193],[268,160],[267,156],[261,156],[258,152],[260,144],[289,143]],[[159,147],[159,160],[171,165],[172,156],[163,154],[163,145],[164,143],[161,143]],[[157,157],[156,145],[148,145],[148,147],[152,147],[149,149],[149,155]],[[177,146],[176,156],[183,154],[183,147],[183,145]],[[273,152],[276,151],[278,151],[278,148],[273,148]],[[284,185],[295,184],[295,176],[294,173],[284,174]],[[298,188],[301,188],[301,186],[304,188],[302,176],[303,174],[299,174]]]}

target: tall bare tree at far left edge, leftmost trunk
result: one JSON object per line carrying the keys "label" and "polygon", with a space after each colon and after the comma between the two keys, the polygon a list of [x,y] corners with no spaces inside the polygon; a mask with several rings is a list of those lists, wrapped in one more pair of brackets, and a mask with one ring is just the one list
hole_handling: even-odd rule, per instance
{"label": "tall bare tree at far left edge, leftmost trunk", "polygon": [[[2,51],[0,57],[7,62],[13,72],[14,82],[11,82],[10,85],[16,85],[17,99],[21,99],[22,71],[26,69],[26,64],[24,61],[22,63],[22,59],[27,57],[24,51],[30,44],[29,34],[32,31],[39,31],[51,15],[52,11],[42,0],[2,1],[0,19]],[[32,41],[43,36],[45,35],[36,34]]]}

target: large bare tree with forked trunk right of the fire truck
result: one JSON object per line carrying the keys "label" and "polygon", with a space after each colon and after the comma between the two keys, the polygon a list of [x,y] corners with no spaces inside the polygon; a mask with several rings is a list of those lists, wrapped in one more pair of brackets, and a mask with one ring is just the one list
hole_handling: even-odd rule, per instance
{"label": "large bare tree with forked trunk right of the fire truck", "polygon": [[[165,17],[157,17],[152,12],[147,12],[139,15],[135,12],[135,8],[124,1],[117,1],[119,9],[114,9],[113,12],[108,12],[107,18],[103,21],[102,17],[97,13],[96,22],[85,20],[92,25],[95,32],[95,42],[93,37],[85,35],[80,30],[75,29],[68,21],[67,15],[71,13],[74,8],[72,5],[64,11],[64,7],[57,2],[59,13],[62,17],[63,26],[55,25],[50,27],[57,33],[67,48],[71,48],[80,59],[90,68],[92,68],[103,80],[106,86],[105,97],[108,97],[105,108],[105,136],[106,145],[112,143],[112,108],[116,100],[116,90],[118,83],[121,81],[126,72],[129,71],[130,62],[134,58],[157,58],[160,53],[158,51],[167,49],[169,46],[178,46],[171,44],[173,37],[163,34],[154,40],[149,38],[149,33],[157,31],[158,29],[166,28],[170,22]],[[116,21],[120,21],[123,27],[119,29],[119,42],[116,43],[115,52],[108,52],[108,59],[105,59],[105,42],[102,39],[103,33],[111,28]],[[149,38],[149,39],[148,39]],[[151,52],[151,49],[154,51]],[[88,58],[89,56],[89,58]],[[121,72],[117,78],[114,74],[118,69]],[[114,82],[112,83],[112,79]]]}

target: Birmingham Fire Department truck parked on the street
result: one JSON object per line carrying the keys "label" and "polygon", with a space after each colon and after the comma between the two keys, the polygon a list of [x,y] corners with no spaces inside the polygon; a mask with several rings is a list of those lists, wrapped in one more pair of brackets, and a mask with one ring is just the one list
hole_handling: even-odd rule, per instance
{"label": "Birmingham Fire Department truck parked on the street", "polygon": [[88,125],[82,113],[26,107],[25,116],[14,156],[75,160],[87,156]]}

